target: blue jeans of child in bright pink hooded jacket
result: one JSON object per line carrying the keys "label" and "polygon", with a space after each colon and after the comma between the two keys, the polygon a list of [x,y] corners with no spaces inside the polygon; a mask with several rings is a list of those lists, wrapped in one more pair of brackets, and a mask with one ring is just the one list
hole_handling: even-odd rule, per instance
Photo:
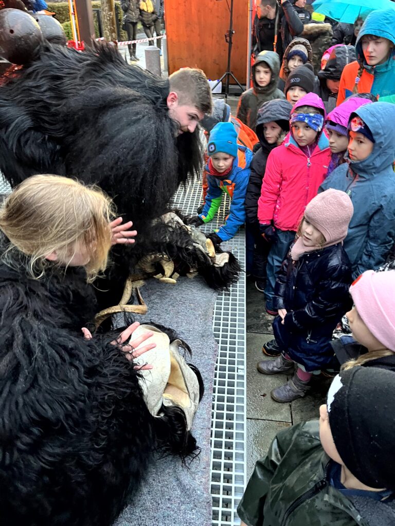
{"label": "blue jeans of child in bright pink hooded jacket", "polygon": [[276,240],[273,241],[271,246],[268,265],[266,266],[266,288],[265,288],[265,300],[266,309],[273,310],[273,296],[274,296],[274,285],[277,278],[277,274],[281,268],[282,262],[288,255],[289,247],[292,241],[295,239],[296,232],[293,230],[280,230],[276,228]]}

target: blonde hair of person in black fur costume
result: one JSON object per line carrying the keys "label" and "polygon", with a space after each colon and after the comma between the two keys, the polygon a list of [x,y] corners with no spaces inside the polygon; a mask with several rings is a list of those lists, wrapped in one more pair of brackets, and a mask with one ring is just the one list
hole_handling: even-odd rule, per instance
{"label": "blonde hair of person in black fur costume", "polygon": [[67,267],[80,243],[92,281],[107,265],[113,215],[111,199],[97,187],[57,175],[29,177],[0,209],[0,229],[10,241],[3,259],[16,247],[30,257],[29,274],[39,279],[49,264],[46,256],[56,251],[57,265]]}

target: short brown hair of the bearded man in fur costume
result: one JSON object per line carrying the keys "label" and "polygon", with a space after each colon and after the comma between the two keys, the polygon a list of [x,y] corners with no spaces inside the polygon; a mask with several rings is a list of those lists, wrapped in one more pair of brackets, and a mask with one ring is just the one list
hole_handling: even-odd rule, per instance
{"label": "short brown hair of the bearded man in fur costume", "polygon": [[169,77],[170,91],[179,97],[179,104],[195,106],[200,112],[210,114],[213,109],[211,89],[201,69],[184,67]]}

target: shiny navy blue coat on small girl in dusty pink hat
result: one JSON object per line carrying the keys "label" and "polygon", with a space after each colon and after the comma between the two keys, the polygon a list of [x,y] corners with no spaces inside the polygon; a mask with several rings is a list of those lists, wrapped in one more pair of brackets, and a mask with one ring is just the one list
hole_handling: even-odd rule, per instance
{"label": "shiny navy blue coat on small girl in dusty pink hat", "polygon": [[274,337],[307,371],[330,368],[336,362],[330,340],[351,308],[351,282],[351,263],[340,243],[283,262],[273,305],[288,312],[284,325],[280,316],[274,319]]}

